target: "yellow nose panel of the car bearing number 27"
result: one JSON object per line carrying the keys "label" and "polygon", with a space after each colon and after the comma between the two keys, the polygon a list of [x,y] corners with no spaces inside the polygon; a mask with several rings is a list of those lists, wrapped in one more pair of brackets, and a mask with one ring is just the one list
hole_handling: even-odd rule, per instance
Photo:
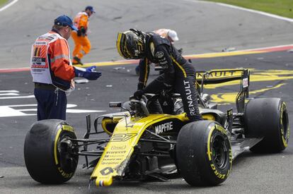
{"label": "yellow nose panel of the car bearing number 27", "polygon": [[185,113],[179,115],[150,114],[144,118],[127,116],[125,119],[121,119],[91,174],[91,180],[96,179],[96,186],[110,186],[113,183],[113,177],[124,176],[125,167],[130,160],[134,146],[137,145],[145,129],[166,119],[188,121]]}

